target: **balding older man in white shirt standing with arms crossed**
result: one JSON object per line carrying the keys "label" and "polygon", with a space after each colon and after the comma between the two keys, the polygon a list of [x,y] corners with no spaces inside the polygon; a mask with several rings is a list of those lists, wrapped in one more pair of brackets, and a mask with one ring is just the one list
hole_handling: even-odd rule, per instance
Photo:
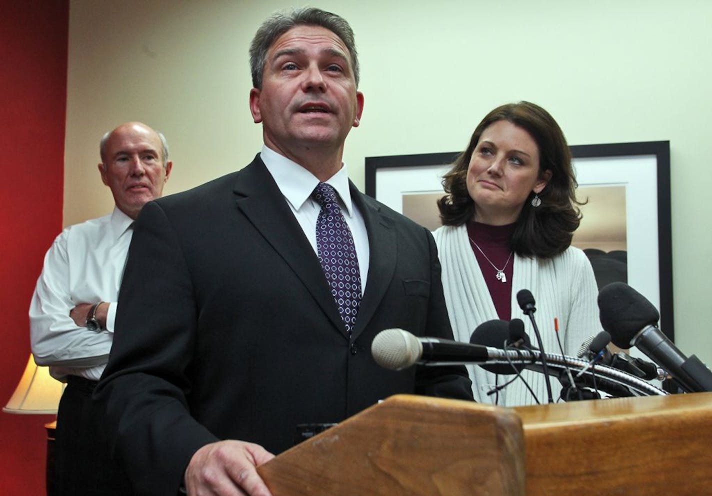
{"label": "balding older man in white shirt standing with arms crossed", "polygon": [[112,213],[65,228],[48,250],[30,304],[35,361],[67,383],[59,405],[53,485],[60,495],[125,495],[91,394],[108,362],[132,223],[159,198],[172,162],[165,138],[140,122],[104,135],[98,169]]}

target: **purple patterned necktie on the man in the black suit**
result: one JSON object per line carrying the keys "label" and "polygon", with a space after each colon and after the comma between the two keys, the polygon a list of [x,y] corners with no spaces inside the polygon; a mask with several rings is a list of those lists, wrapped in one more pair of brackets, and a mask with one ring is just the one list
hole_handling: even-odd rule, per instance
{"label": "purple patterned necktie on the man in the black suit", "polygon": [[312,194],[321,205],[316,221],[316,246],[331,294],[339,306],[339,313],[351,331],[361,302],[361,273],[358,268],[356,246],[344,214],[336,199],[336,191],[326,183],[319,183]]}

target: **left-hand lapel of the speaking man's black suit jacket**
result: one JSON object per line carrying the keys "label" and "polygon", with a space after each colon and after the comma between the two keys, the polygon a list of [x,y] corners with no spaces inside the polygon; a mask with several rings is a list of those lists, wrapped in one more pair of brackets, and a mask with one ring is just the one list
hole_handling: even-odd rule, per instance
{"label": "left-hand lapel of the speaking man's black suit jacket", "polygon": [[238,208],[302,280],[335,327],[346,335],[319,259],[259,156],[237,174],[234,193]]}

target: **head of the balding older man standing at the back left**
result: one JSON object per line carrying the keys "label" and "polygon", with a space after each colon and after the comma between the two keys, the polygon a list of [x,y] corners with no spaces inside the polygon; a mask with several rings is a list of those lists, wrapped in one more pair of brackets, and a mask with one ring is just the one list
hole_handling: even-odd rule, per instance
{"label": "head of the balding older man standing at the back left", "polygon": [[158,134],[137,122],[112,131],[103,159],[105,164],[99,164],[101,180],[111,189],[116,206],[130,218],[161,196],[173,166],[171,162],[163,166]]}

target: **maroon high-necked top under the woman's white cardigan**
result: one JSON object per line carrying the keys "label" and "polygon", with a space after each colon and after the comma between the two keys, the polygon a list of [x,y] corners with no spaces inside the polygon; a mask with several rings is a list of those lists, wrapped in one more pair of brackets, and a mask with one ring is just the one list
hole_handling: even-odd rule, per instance
{"label": "maroon high-necked top under the woman's white cardigan", "polygon": [[[514,274],[514,254],[512,253],[511,239],[514,234],[515,224],[506,226],[488,226],[487,224],[469,221],[467,223],[467,236],[470,238],[470,247],[480,265],[482,276],[487,283],[497,315],[502,320],[511,320],[512,317],[512,276]],[[497,279],[497,270],[480,253],[474,243],[487,255],[496,268],[504,268],[506,282]],[[509,262],[507,259],[511,254]],[[506,264],[506,267],[505,267]]]}

